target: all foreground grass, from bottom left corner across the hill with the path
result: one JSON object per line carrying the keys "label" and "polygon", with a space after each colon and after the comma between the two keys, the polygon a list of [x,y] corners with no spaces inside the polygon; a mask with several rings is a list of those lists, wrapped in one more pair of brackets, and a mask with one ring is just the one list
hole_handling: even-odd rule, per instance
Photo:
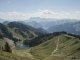
{"label": "all foreground grass, from bottom left corner across the hill with the path", "polygon": [[[56,50],[57,43],[58,48]],[[4,46],[4,40],[0,39],[0,47],[2,46]],[[73,59],[80,59],[80,39],[65,34],[52,37],[51,39],[46,40],[44,43],[41,43],[40,45],[32,47],[30,49],[23,50],[13,49],[12,53],[3,52],[0,50],[0,60],[73,60]]]}

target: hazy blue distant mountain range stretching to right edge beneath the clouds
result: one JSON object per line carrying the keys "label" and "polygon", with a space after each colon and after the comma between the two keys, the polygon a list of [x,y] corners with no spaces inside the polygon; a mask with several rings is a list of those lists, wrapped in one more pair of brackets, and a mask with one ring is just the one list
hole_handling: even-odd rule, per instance
{"label": "hazy blue distant mountain range stretching to right edge beneath the clouds", "polygon": [[42,28],[49,33],[66,31],[72,34],[80,35],[80,20],[31,18],[24,22],[34,28]]}

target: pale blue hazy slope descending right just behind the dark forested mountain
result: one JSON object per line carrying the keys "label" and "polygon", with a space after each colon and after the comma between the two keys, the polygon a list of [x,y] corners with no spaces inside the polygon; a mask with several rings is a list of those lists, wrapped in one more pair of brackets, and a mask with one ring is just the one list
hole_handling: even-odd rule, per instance
{"label": "pale blue hazy slope descending right just behind the dark forested mountain", "polygon": [[46,31],[46,30],[41,26],[41,24],[39,24],[39,23],[36,22],[36,21],[18,21],[18,22],[35,28],[34,31],[38,32],[39,34],[40,34],[40,33],[42,33],[42,34],[48,34],[48,31]]}

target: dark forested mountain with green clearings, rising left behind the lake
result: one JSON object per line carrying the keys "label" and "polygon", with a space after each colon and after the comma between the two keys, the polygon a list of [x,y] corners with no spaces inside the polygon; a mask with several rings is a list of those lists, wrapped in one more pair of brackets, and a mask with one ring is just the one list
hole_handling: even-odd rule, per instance
{"label": "dark forested mountain with green clearings, rising left behind the lake", "polygon": [[15,44],[17,48],[23,45],[24,41],[32,40],[44,34],[46,34],[46,32],[42,31],[40,28],[36,29],[17,21],[8,22],[7,24],[6,22],[0,23],[1,40],[8,42],[10,45]]}

